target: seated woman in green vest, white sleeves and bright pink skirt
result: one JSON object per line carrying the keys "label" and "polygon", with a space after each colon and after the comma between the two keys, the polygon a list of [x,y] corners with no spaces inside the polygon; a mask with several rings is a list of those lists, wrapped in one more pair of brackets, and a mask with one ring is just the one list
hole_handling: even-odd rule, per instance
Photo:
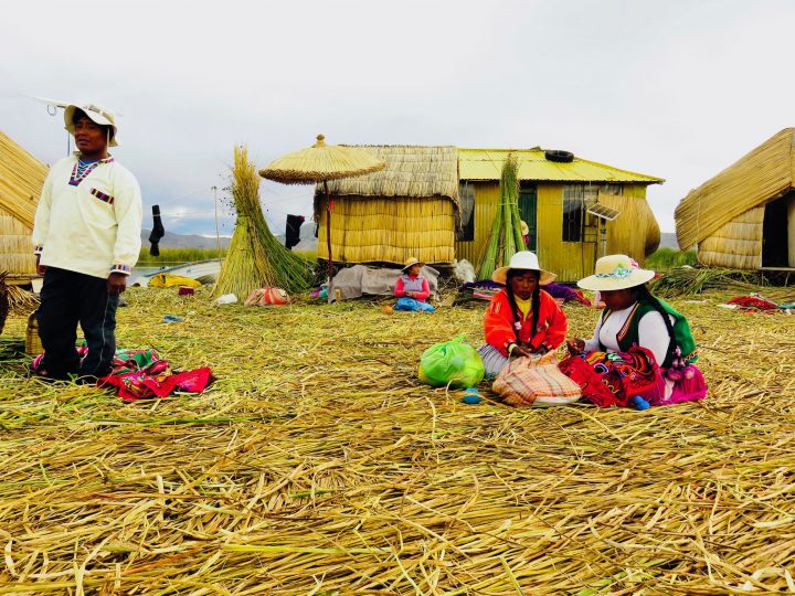
{"label": "seated woman in green vest, white sleeves and bright pink skirt", "polygon": [[[622,359],[615,366],[617,377],[628,380],[624,397],[615,405],[633,404],[645,408],[704,397],[707,385],[701,371],[692,365],[698,355],[687,319],[654,297],[646,286],[655,273],[639,268],[626,255],[604,256],[596,262],[595,269],[594,275],[581,279],[577,285],[598,291],[605,309],[591,339],[569,340],[570,352],[582,355],[597,371],[604,371],[606,360],[600,363],[600,353],[608,354],[607,360],[612,362],[606,368],[612,369],[617,362],[615,353],[635,351],[634,358]],[[637,348],[644,348],[646,352]],[[610,356],[611,353],[614,355]],[[575,364],[582,370],[582,362]],[[568,369],[571,369],[570,363],[563,361],[561,370],[571,372]],[[643,386],[637,383],[640,379],[647,379],[648,383]],[[635,390],[630,389],[633,382]],[[604,387],[596,389],[602,391]],[[583,394],[589,397],[587,391]],[[601,403],[597,395],[591,400],[600,405],[614,405]],[[628,403],[622,403],[623,400]]]}

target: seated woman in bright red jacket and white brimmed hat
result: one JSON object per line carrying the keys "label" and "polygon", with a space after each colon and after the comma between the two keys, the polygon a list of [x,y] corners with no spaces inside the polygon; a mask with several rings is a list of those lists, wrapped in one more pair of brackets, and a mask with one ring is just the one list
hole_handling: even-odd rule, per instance
{"label": "seated woman in bright red jacket and white brimmed hat", "polygon": [[542,355],[563,343],[566,317],[541,289],[555,277],[539,267],[530,251],[515,254],[507,267],[494,273],[491,279],[506,287],[491,298],[484,319],[486,344],[478,353],[487,375],[499,374],[511,358]]}

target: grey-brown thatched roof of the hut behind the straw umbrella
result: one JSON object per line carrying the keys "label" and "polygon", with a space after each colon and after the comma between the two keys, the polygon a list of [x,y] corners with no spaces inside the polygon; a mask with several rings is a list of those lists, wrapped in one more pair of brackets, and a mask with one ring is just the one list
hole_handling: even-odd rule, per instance
{"label": "grey-brown thatched roof of the hut behind the straw umbrella", "polygon": [[[409,199],[442,196],[458,204],[458,150],[455,147],[354,147],[385,161],[386,168],[367,175],[331,181],[328,183],[331,194]],[[316,193],[322,193],[322,185],[316,188]]]}

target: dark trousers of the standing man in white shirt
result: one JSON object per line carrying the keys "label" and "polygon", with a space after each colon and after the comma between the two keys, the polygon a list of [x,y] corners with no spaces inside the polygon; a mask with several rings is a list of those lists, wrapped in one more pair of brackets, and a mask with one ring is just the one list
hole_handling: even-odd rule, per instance
{"label": "dark trousers of the standing man in white shirt", "polygon": [[[100,277],[47,267],[38,319],[44,347],[40,370],[49,376],[104,376],[110,372],[118,296],[108,296],[106,283]],[[75,349],[77,323],[88,345],[83,362]]]}

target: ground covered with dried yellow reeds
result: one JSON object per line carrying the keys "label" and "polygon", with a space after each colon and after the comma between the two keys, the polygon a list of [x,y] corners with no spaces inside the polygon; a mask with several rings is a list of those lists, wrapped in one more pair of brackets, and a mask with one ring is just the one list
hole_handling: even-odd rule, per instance
{"label": "ground covered with dried yellow reeds", "polygon": [[479,308],[127,297],[123,344],[220,380],[125,405],[3,365],[2,594],[795,590],[795,317],[675,301],[707,402],[518,411],[414,379]]}

